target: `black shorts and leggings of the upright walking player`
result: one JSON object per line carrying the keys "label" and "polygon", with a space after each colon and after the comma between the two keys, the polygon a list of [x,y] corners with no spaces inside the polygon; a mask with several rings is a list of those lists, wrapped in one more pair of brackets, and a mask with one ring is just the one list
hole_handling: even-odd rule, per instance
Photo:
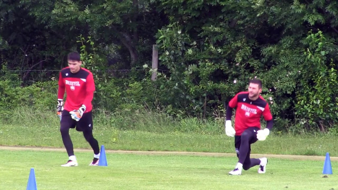
{"label": "black shorts and leggings of the upright walking player", "polygon": [[83,136],[92,147],[94,154],[98,155],[100,153],[99,143],[93,136],[92,112],[84,113],[82,118],[78,122],[76,122],[71,118],[69,112],[64,110],[62,112],[62,119],[60,124],[62,141],[65,145],[69,157],[74,155],[73,143],[70,139],[69,129],[75,127],[77,131],[83,132]]}

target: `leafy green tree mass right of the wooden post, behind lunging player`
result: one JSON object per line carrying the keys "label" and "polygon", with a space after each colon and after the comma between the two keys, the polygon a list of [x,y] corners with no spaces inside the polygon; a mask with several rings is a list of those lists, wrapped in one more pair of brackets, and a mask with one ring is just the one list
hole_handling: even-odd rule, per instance
{"label": "leafy green tree mass right of the wooden post, behind lunging player", "polygon": [[171,24],[158,32],[160,59],[191,112],[217,110],[258,77],[277,120],[335,122],[337,2],[161,2]]}

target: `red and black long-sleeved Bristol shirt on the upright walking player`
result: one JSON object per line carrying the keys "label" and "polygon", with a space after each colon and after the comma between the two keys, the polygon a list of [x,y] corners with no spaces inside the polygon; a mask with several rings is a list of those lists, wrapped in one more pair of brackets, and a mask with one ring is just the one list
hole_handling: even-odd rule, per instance
{"label": "red and black long-sleeved Bristol shirt on the upright walking player", "polygon": [[80,68],[76,73],[71,73],[69,67],[63,68],[59,74],[58,99],[63,99],[67,94],[64,110],[78,110],[82,104],[86,106],[87,113],[93,109],[95,83],[92,72]]}

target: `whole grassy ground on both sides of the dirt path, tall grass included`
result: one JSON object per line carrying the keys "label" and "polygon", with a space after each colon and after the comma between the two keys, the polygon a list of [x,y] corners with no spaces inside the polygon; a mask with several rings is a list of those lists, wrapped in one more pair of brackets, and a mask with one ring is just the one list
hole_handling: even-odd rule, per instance
{"label": "whole grassy ground on both sides of the dirt path, tall grass included", "polygon": [[[254,167],[243,171],[242,176],[229,176],[237,158],[234,138],[224,134],[222,123],[203,124],[195,119],[175,122],[144,115],[123,120],[99,115],[94,120],[94,136],[105,146],[108,167],[88,166],[93,158],[91,150],[76,150],[80,165],[63,168],[60,165],[68,156],[59,131],[60,121],[53,114],[19,110],[13,112],[16,118],[0,119],[0,146],[61,148],[41,151],[0,147],[5,160],[0,165],[0,190],[25,189],[30,168],[35,169],[38,190],[338,190],[335,133],[294,135],[272,131],[266,141],[251,147],[253,154],[273,154],[267,156],[268,172],[258,174],[258,167]],[[74,148],[90,149],[82,133],[72,129],[70,135]],[[125,154],[111,150],[170,153]],[[323,177],[327,152],[334,175]]]}

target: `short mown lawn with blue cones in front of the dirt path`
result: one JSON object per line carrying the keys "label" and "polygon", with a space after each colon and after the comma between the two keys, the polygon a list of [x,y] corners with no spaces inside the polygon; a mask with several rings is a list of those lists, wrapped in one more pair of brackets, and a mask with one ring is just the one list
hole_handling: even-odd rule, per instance
{"label": "short mown lawn with blue cones in front of the dirt path", "polygon": [[[338,177],[321,174],[323,161],[270,158],[266,174],[257,167],[229,176],[235,157],[106,153],[108,166],[88,166],[91,152],[76,153],[79,166],[60,167],[62,151],[0,150],[0,189],[23,190],[34,168],[38,190],[335,190]],[[333,168],[338,166],[332,162]],[[5,172],[3,172],[5,171]]]}

